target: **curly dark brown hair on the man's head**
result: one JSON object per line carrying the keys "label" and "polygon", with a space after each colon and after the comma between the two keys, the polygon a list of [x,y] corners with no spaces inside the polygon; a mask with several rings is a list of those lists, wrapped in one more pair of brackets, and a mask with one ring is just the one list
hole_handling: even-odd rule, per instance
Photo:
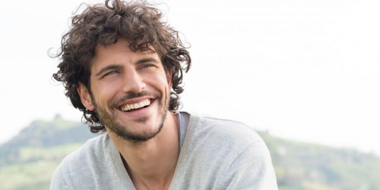
{"label": "curly dark brown hair on the man's head", "polygon": [[104,131],[105,127],[95,111],[82,104],[77,88],[80,82],[91,94],[90,68],[95,47],[116,43],[118,38],[127,39],[132,51],[159,55],[165,71],[172,73],[169,110],[178,110],[181,105],[179,94],[184,91],[181,86],[183,71],[189,71],[191,59],[179,32],[162,21],[161,11],[145,1],[106,0],[104,4],[84,5],[83,12],[72,17],[71,27],[63,35],[59,51],[51,57],[60,60],[59,71],[53,74],[53,78],[63,83],[65,95],[74,108],[83,112],[82,120],[89,124],[91,132]]}

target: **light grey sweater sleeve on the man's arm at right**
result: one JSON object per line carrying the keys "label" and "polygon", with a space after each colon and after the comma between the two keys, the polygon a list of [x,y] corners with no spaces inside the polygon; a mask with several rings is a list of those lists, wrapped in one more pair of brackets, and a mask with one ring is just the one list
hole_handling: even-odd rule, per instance
{"label": "light grey sweater sleeve on the man's arm at right", "polygon": [[271,156],[263,141],[249,145],[231,164],[223,190],[278,190]]}

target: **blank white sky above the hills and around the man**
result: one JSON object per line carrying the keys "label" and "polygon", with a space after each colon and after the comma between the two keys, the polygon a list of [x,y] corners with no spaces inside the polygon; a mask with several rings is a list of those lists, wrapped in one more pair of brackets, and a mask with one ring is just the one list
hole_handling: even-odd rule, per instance
{"label": "blank white sky above the hills and around the man", "polygon": [[[34,119],[80,120],[51,80],[58,60],[47,49],[81,2],[2,2],[0,143]],[[183,110],[380,154],[380,1],[165,2],[191,43]]]}

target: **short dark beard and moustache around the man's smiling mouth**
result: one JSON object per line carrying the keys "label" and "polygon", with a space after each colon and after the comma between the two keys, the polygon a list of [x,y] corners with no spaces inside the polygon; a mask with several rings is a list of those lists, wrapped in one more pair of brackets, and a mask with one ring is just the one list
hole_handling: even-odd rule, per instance
{"label": "short dark beard and moustache around the man's smiling mouth", "polygon": [[[116,108],[116,105],[119,105],[120,103],[122,103],[128,99],[142,97],[142,96],[156,97],[154,101],[158,101],[158,107],[159,107],[158,118],[159,118],[159,121],[157,123],[158,126],[155,127],[154,131],[146,132],[146,133],[137,133],[137,132],[133,132],[131,130],[132,126],[125,126],[125,125],[121,124],[120,120],[118,120],[118,118],[116,117],[114,110]],[[166,114],[169,110],[169,96],[165,96],[163,103],[162,103],[162,99],[163,99],[162,94],[157,93],[157,92],[155,92],[155,93],[149,93],[146,91],[142,91],[139,93],[130,92],[130,93],[126,94],[124,97],[122,97],[120,100],[108,105],[108,108],[111,111],[111,113],[107,112],[106,109],[104,109],[103,107],[97,105],[96,102],[94,102],[94,105],[95,105],[95,112],[98,114],[98,116],[100,118],[100,123],[102,123],[104,126],[107,126],[107,128],[110,131],[112,131],[113,133],[115,133],[119,138],[126,140],[128,142],[131,142],[133,144],[140,144],[140,143],[146,142],[146,141],[152,139],[153,137],[155,137],[161,131],[161,129],[164,125],[164,121],[166,119]],[[160,109],[160,108],[162,108],[162,109]],[[144,124],[144,123],[146,123],[147,119],[148,119],[148,117],[144,116],[144,117],[140,117],[140,118],[135,119],[135,122],[139,122],[139,123]]]}

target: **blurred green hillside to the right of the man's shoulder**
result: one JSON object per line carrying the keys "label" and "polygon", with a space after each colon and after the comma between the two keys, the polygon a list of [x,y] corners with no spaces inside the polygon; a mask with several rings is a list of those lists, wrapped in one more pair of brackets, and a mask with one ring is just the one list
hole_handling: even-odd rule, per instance
{"label": "blurred green hillside to the right of the man's shoulder", "polygon": [[280,190],[380,190],[380,157],[260,133]]}

